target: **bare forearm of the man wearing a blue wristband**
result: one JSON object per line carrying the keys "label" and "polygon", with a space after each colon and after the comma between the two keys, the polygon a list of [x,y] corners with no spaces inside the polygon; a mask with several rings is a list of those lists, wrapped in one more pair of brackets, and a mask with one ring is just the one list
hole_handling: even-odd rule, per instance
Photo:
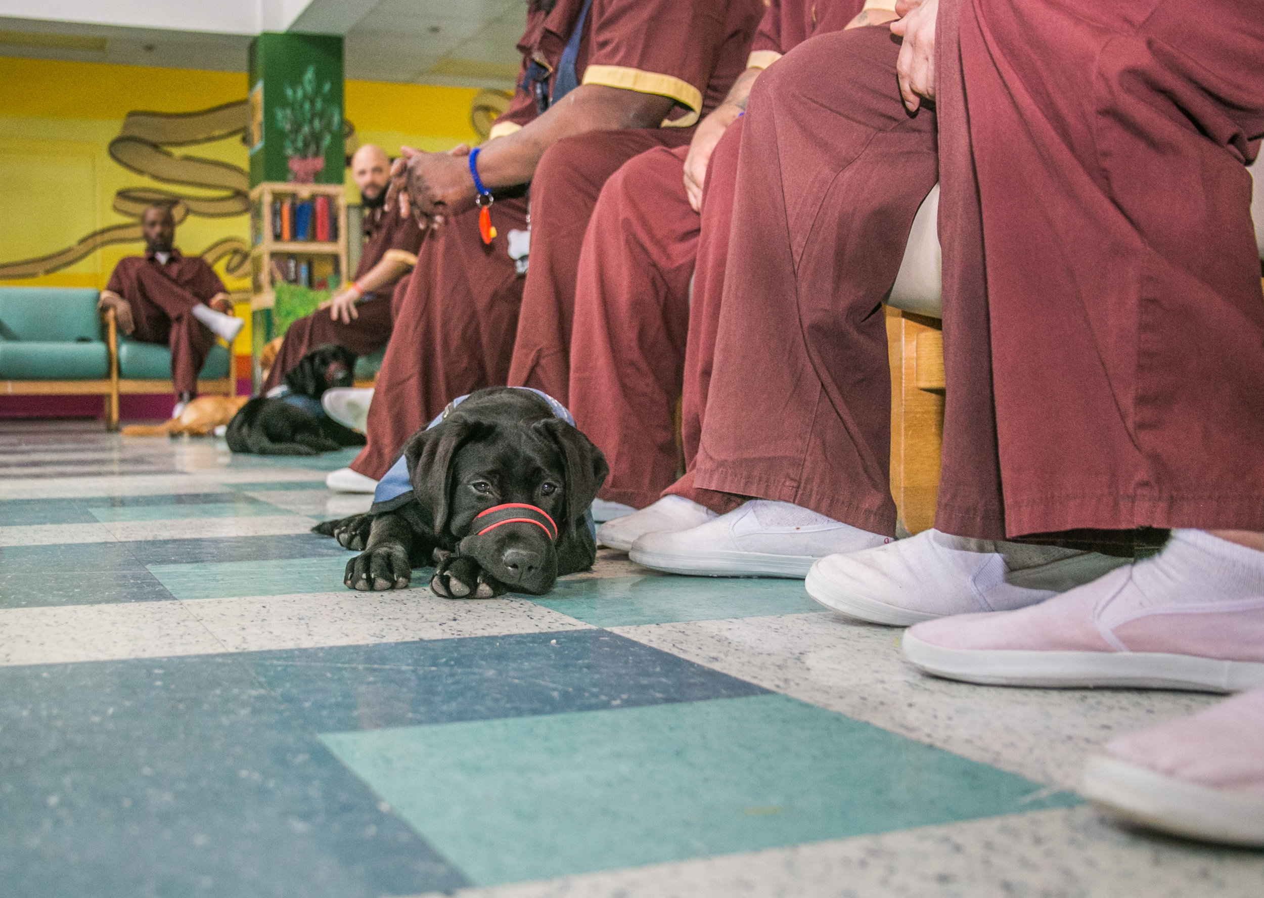
{"label": "bare forearm of the man wearing a blue wristband", "polygon": [[479,177],[488,187],[526,183],[559,140],[595,130],[657,128],[672,105],[671,97],[656,94],[580,85],[522,130],[490,140],[478,158]]}

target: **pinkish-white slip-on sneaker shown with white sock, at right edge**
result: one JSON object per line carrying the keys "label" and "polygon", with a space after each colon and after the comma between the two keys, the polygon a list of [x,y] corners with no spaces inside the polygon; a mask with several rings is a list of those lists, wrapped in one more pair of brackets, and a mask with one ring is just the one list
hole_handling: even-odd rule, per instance
{"label": "pinkish-white slip-on sneaker shown with white sock, at right edge", "polygon": [[1173,530],[1153,558],[1039,605],[923,621],[901,645],[914,667],[967,683],[1264,687],[1264,551]]}

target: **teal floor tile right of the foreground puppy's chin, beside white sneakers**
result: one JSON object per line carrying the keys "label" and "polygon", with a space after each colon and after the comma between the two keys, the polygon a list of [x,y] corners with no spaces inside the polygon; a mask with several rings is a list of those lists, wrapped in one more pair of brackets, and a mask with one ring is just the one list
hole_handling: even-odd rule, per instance
{"label": "teal floor tile right of the foreground puppy's chin, beside white sneakers", "polygon": [[588,577],[561,579],[533,602],[599,627],[712,621],[824,611],[803,581],[732,577]]}

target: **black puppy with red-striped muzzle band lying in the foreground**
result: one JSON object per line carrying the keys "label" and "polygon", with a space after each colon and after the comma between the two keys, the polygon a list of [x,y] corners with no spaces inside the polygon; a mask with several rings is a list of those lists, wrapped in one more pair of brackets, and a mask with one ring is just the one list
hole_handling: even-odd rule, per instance
{"label": "black puppy with red-striped muzzle band lying in the foreground", "polygon": [[346,565],[348,587],[402,589],[413,568],[434,563],[440,596],[541,596],[595,560],[588,507],[609,473],[605,457],[540,395],[479,390],[413,434],[401,458],[397,497],[313,527],[364,550]]}

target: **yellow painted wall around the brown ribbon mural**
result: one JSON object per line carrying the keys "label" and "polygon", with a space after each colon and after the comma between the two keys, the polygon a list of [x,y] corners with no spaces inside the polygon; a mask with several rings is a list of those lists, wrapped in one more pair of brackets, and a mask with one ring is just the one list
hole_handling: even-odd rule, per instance
{"label": "yellow painted wall around the brown ribbon mural", "polygon": [[[128,171],[106,152],[129,111],[192,113],[246,94],[244,73],[5,57],[0,57],[0,263],[47,255],[96,229],[134,221],[111,207],[115,191],[164,187]],[[378,143],[392,154],[399,144],[441,151],[478,139],[469,124],[475,92],[349,81],[345,113],[360,143]],[[238,135],[173,152],[248,166]],[[358,201],[354,188],[348,199]],[[176,242],[186,253],[200,253],[225,237],[245,239],[248,230],[245,215],[190,216]],[[61,271],[0,286],[104,287],[119,258],[142,250],[139,242],[114,244]],[[245,280],[225,281],[230,290],[248,287]]]}

